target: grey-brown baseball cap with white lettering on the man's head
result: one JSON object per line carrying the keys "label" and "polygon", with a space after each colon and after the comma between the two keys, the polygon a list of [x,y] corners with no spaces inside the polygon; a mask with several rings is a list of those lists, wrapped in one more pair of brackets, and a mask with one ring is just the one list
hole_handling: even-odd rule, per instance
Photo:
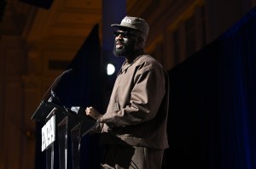
{"label": "grey-brown baseball cap with white lettering on the man's head", "polygon": [[135,30],[136,34],[140,37],[143,37],[144,42],[146,42],[148,37],[149,26],[146,20],[142,18],[137,18],[133,16],[125,16],[125,18],[121,21],[120,24],[111,25],[117,28],[129,28],[131,30]]}

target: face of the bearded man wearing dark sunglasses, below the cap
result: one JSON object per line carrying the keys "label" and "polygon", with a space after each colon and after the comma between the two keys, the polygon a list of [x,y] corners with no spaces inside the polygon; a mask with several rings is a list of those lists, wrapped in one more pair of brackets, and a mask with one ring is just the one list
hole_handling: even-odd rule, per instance
{"label": "face of the bearded man wearing dark sunglasses, below the cap", "polygon": [[129,31],[115,31],[113,45],[113,54],[115,56],[129,57],[136,52],[137,36]]}

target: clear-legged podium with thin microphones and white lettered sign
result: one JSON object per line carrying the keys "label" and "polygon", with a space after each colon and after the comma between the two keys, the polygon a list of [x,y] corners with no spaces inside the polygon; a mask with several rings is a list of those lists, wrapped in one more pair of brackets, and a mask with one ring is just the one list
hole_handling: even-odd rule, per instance
{"label": "clear-legged podium with thin microphones and white lettered sign", "polygon": [[[67,74],[65,71],[61,76]],[[59,101],[55,96],[53,88],[60,82],[58,76],[55,82],[49,87],[47,93],[32,115],[33,121],[41,122],[42,128],[42,152],[46,151],[46,169],[54,169],[55,153],[59,153],[59,166],[67,169],[67,138],[71,137],[72,166],[73,169],[80,168],[80,141],[85,134],[96,127],[97,121],[85,115],[82,107],[67,109],[64,105],[56,104]],[[57,138],[55,138],[57,136]],[[58,152],[55,152],[55,143],[58,143]]]}

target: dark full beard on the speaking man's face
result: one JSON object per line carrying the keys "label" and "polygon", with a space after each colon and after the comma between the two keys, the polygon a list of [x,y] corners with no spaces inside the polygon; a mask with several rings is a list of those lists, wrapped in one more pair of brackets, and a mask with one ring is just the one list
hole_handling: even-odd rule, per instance
{"label": "dark full beard on the speaking man's face", "polygon": [[135,54],[135,52],[136,52],[136,50],[135,50],[136,40],[135,39],[130,39],[126,42],[119,41],[123,45],[122,48],[116,48],[115,42],[113,45],[113,54],[115,56],[131,57],[133,54]]}

